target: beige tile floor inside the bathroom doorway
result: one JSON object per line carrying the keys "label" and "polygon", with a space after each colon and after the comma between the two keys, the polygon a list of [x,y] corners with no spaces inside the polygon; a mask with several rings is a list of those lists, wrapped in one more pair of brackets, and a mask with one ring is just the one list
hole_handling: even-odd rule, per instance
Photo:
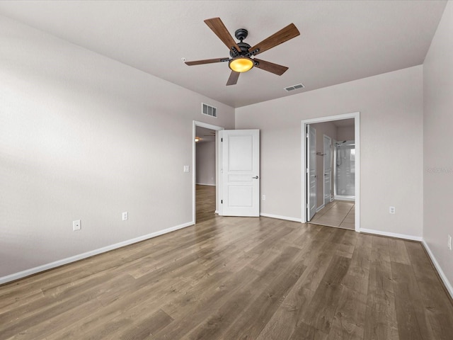
{"label": "beige tile floor inside the bathroom doorway", "polygon": [[355,203],[333,200],[316,212],[310,222],[315,225],[355,230]]}

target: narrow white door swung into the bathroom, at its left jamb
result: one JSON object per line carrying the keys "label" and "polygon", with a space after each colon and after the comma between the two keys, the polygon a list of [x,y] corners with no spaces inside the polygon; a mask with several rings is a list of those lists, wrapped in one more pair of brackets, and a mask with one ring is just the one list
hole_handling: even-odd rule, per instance
{"label": "narrow white door swung into the bathroom, at its left jamb", "polygon": [[307,125],[309,130],[306,134],[307,144],[309,148],[307,157],[307,171],[306,171],[306,183],[308,183],[309,190],[307,191],[307,206],[308,206],[308,218],[307,221],[311,220],[311,217],[316,214],[316,129]]}

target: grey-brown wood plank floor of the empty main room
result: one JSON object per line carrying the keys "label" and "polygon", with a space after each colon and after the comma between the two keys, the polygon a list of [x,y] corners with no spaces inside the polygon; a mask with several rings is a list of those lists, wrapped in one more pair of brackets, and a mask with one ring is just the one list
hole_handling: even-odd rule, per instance
{"label": "grey-brown wood plank floor of the empty main room", "polygon": [[418,242],[218,217],[0,287],[0,339],[452,339]]}

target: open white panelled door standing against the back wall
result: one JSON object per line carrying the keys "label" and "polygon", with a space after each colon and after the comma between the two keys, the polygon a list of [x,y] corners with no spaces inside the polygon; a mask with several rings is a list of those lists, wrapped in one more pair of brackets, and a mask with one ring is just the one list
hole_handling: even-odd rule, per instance
{"label": "open white panelled door standing against the back wall", "polygon": [[219,131],[222,197],[219,215],[260,215],[260,130]]}

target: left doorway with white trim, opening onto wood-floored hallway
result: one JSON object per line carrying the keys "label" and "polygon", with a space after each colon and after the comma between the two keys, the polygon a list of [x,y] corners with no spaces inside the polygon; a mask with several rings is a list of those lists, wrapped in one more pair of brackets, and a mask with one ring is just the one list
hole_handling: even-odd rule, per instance
{"label": "left doorway with white trim, opening onto wood-floored hallway", "polygon": [[193,223],[212,220],[219,207],[217,125],[193,121]]}

